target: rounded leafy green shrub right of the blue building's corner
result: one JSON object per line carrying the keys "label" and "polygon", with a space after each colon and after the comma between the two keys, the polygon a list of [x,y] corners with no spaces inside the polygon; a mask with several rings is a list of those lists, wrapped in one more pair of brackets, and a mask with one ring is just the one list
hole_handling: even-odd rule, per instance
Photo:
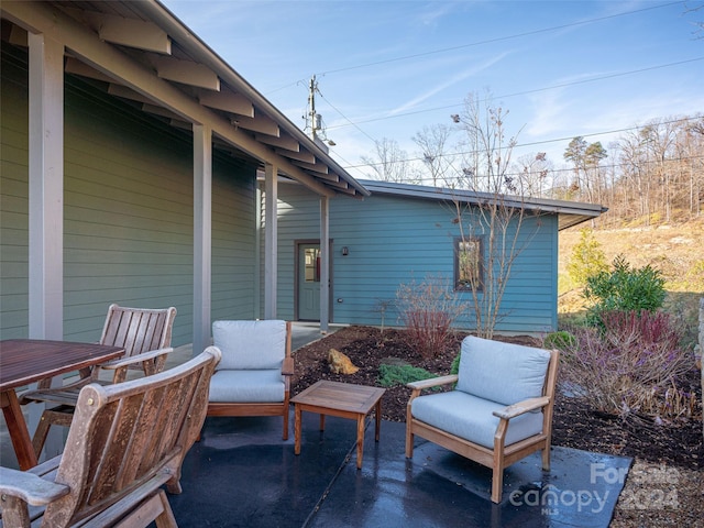
{"label": "rounded leafy green shrub right of the blue building's corner", "polygon": [[586,279],[584,298],[592,301],[586,321],[602,327],[605,311],[656,311],[666,298],[664,278],[650,265],[631,268],[623,255],[614,260],[610,272],[601,272]]}

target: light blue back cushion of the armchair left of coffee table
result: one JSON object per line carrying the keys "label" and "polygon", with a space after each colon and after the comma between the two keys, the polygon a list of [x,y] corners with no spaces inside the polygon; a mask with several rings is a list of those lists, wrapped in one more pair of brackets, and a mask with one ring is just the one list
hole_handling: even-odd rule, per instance
{"label": "light blue back cushion of the armchair left of coffee table", "polygon": [[286,355],[286,321],[215,321],[212,342],[222,352],[218,371],[280,370]]}

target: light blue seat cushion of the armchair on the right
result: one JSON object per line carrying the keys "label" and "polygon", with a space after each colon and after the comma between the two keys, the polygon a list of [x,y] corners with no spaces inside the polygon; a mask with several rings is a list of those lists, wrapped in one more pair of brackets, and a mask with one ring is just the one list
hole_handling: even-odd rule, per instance
{"label": "light blue seat cushion of the armchair on the right", "polygon": [[[488,449],[499,419],[492,413],[505,408],[461,391],[419,396],[410,404],[414,418]],[[505,446],[542,431],[542,413],[526,413],[508,422]]]}

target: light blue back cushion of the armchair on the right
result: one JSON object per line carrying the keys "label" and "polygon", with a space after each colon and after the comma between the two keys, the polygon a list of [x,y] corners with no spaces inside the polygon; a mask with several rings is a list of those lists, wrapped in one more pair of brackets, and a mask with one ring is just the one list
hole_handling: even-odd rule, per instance
{"label": "light blue back cushion of the armchair on the right", "polygon": [[458,391],[503,405],[542,395],[550,352],[470,336],[462,341]]}

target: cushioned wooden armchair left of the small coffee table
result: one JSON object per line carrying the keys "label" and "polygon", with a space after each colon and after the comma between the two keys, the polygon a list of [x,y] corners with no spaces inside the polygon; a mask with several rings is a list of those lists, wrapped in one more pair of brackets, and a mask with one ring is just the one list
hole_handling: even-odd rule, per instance
{"label": "cushioned wooden armchair left of the small coffee table", "polygon": [[288,439],[290,321],[216,321],[222,361],[210,381],[208,416],[280,416]]}

